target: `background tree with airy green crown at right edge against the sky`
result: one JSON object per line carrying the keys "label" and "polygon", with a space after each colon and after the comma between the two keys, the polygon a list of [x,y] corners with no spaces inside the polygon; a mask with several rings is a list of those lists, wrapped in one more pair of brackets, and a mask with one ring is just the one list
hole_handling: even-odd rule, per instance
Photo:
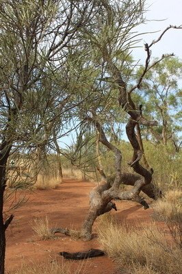
{"label": "background tree with airy green crown at right edge against the sky", "polygon": [[157,127],[147,129],[146,135],[153,136],[157,142],[164,145],[167,145],[168,140],[172,140],[175,147],[179,139],[178,132],[181,130],[181,77],[182,62],[179,58],[171,57],[153,66],[144,76],[140,87],[141,101],[145,101],[144,113],[158,121]]}

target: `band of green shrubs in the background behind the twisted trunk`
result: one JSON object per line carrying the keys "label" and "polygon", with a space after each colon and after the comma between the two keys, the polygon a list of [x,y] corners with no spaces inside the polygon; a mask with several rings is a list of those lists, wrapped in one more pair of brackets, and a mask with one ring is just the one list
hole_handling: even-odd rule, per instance
{"label": "band of green shrubs in the background behind the twisted trunk", "polygon": [[[122,172],[133,172],[133,169],[129,166],[128,162],[131,161],[131,158],[133,156],[133,149],[129,142],[126,142],[124,140],[120,141],[120,144],[114,144],[116,145],[120,151],[122,152]],[[96,158],[96,143],[92,142],[92,145],[90,143],[90,148],[87,158],[86,155],[82,155],[82,158],[77,159],[77,166],[79,166],[80,161],[81,165],[79,168],[83,166],[84,163],[87,166],[86,173],[88,174],[88,177],[90,179],[96,180],[96,174],[90,173],[91,171],[94,171],[94,166],[98,166],[98,159]],[[86,149],[86,148],[85,148]],[[83,151],[85,151],[83,149]],[[168,189],[168,188],[181,188],[182,187],[182,155],[181,150],[179,153],[175,151],[175,147],[172,144],[172,142],[169,142],[168,145],[163,144],[157,144],[153,145],[149,141],[144,141],[144,152],[146,159],[148,161],[148,164],[153,168],[153,182],[157,184],[160,188]],[[114,153],[112,151],[109,151],[106,149],[103,145],[100,145],[100,155],[101,155],[101,163],[103,166],[103,171],[105,172],[105,175],[111,175],[115,173],[115,159],[114,159]],[[81,155],[80,155],[81,156]],[[86,162],[84,162],[86,161]],[[62,165],[64,169],[71,169],[72,164],[68,159],[62,157]],[[97,175],[99,177],[99,174]]]}

